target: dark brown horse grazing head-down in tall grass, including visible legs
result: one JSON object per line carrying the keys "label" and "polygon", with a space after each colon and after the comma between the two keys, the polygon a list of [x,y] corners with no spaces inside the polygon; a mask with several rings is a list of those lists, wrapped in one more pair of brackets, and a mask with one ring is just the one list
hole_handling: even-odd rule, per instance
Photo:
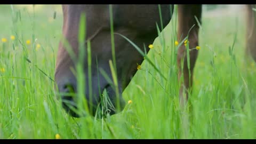
{"label": "dark brown horse grazing head-down in tall grass, including visible legs", "polygon": [[[158,25],[161,23],[159,17],[158,5],[113,5],[113,24],[114,32],[122,34],[139,47],[143,44],[149,45],[154,42],[157,35],[156,22]],[[92,54],[92,99],[89,97],[89,92],[85,92],[85,97],[89,104],[91,114],[95,114],[95,110],[100,101],[100,95],[104,89],[107,90],[111,102],[116,107],[117,96],[114,87],[106,81],[102,74],[98,74],[98,68],[106,71],[106,74],[111,77],[111,70],[109,67],[109,60],[112,59],[111,55],[111,34],[110,34],[110,16],[109,5],[62,5],[63,10],[63,36],[71,45],[75,54],[78,54],[78,27],[81,18],[81,13],[86,13],[86,38],[91,41],[91,54]],[[254,13],[252,5],[247,6],[248,15],[248,33],[249,36],[247,45],[247,52],[253,53],[253,58],[256,60],[256,49],[254,49],[254,39],[256,38]],[[173,5],[161,5],[162,22],[165,27],[171,20],[173,13]],[[189,29],[195,25],[188,36],[189,49],[198,45],[198,31],[199,26],[195,17],[201,23],[202,5],[178,5],[178,38],[184,39],[189,32]],[[119,35],[114,36],[115,39],[115,54],[116,54],[116,70],[117,80],[119,84],[119,95],[121,109],[125,103],[121,96],[122,91],[131,81],[131,77],[137,71],[136,63],[143,61],[142,55],[134,49],[134,47]],[[148,52],[149,49],[147,49]],[[144,51],[144,50],[142,50]],[[187,57],[185,52],[185,45],[181,45],[178,50],[178,65],[179,65],[179,78],[183,73],[184,83],[180,87],[180,101],[183,103],[187,101],[187,90],[193,83],[193,69],[195,66],[198,51],[191,50],[190,55],[190,73],[187,65]],[[181,71],[181,59],[185,58],[184,68]],[[85,89],[89,90],[89,78],[87,77],[87,58],[84,59],[84,75],[85,75]],[[98,68],[97,65],[98,64]],[[65,49],[65,46],[60,42],[58,58],[55,69],[55,81],[57,82],[59,92],[77,92],[76,76],[71,72],[70,68],[75,68],[75,62],[71,60],[70,55]],[[190,81],[190,82],[189,82]],[[98,83],[99,82],[99,83]],[[185,100],[183,100],[182,92],[185,91]],[[62,106],[72,116],[78,116],[68,106],[69,101],[77,108],[77,100],[71,96],[61,96]],[[110,114],[115,114],[115,110],[111,110]]]}

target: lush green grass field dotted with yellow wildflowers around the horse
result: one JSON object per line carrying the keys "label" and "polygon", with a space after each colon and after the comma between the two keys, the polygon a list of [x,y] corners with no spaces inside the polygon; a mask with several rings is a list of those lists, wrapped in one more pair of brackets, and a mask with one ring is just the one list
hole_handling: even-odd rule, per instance
{"label": "lush green grass field dotted with yellow wildflowers around the horse", "polygon": [[[242,12],[217,12],[214,17],[203,13],[201,50],[189,95],[193,111],[179,107],[174,13],[164,29],[166,46],[162,49],[157,38],[148,53],[168,81],[144,61],[123,92],[132,103],[105,119],[71,117],[55,97],[51,78],[61,12],[60,5],[35,5],[34,11],[31,5],[13,5],[13,10],[0,6],[0,139],[55,139],[56,134],[61,139],[256,138],[256,66],[244,61]],[[182,121],[185,116],[191,116],[187,123]]]}

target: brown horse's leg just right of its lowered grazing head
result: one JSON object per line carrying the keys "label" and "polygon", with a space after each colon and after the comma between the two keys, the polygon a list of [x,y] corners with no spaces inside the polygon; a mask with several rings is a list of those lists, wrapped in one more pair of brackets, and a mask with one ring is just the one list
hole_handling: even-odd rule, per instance
{"label": "brown horse's leg just right of its lowered grazing head", "polygon": [[[202,13],[202,5],[178,5],[178,39],[180,41],[184,39],[189,32],[189,29],[193,27],[189,32],[188,41],[189,41],[189,49],[193,49],[198,46],[198,31],[199,26],[196,21],[196,18],[201,23],[201,13]],[[178,67],[179,67],[179,81],[181,80],[181,75],[183,72],[184,82],[180,87],[180,103],[184,106],[184,103],[188,100],[188,90],[190,90],[193,82],[193,69],[195,66],[197,53],[196,49],[189,51],[189,60],[190,60],[190,76],[189,76],[189,68],[187,63],[187,54],[186,47],[182,44],[178,50]],[[183,71],[182,71],[182,59],[183,60]],[[183,94],[185,91],[185,94]],[[186,100],[184,100],[184,97]]]}

